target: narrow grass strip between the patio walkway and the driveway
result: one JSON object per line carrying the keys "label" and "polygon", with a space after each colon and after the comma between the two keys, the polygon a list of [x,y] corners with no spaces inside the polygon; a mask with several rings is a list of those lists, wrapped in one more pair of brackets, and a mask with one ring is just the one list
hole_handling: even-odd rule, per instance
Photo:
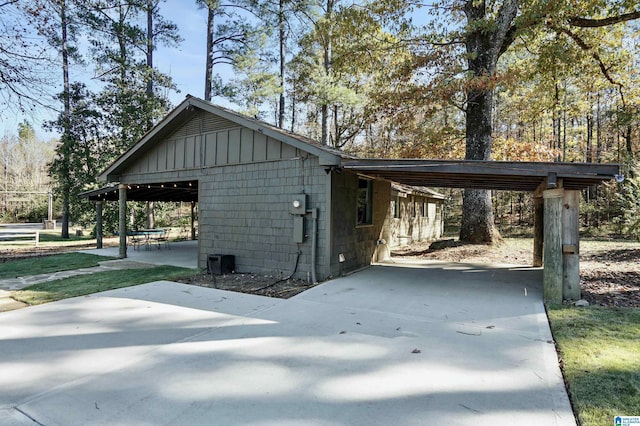
{"label": "narrow grass strip between the patio walkway and the driveway", "polygon": [[196,269],[178,268],[176,266],[98,272],[91,275],[80,275],[48,283],[34,284],[15,292],[13,298],[29,305],[40,305],[69,297],[84,296],[152,281],[175,280],[192,276],[198,272]]}

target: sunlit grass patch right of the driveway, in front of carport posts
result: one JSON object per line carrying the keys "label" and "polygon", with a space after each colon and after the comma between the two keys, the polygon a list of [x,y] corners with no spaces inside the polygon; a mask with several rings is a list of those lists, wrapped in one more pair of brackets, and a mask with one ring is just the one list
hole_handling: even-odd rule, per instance
{"label": "sunlit grass patch right of the driveway, in front of carport posts", "polygon": [[549,307],[547,313],[580,424],[640,415],[640,309]]}

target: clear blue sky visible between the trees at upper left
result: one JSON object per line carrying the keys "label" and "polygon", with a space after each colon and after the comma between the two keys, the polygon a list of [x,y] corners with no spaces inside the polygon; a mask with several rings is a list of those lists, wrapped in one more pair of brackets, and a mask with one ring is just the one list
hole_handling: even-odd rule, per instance
{"label": "clear blue sky visible between the trees at upper left", "polygon": [[[177,47],[158,47],[154,55],[156,68],[170,75],[179,91],[169,93],[171,104],[175,106],[182,102],[187,94],[200,98],[204,96],[207,12],[205,9],[199,9],[194,0],[166,0],[160,4],[160,8],[162,15],[178,26],[183,38]],[[86,69],[74,66],[71,74],[72,81],[83,81],[91,87],[91,65]],[[60,87],[52,93],[60,92],[61,86],[62,75]],[[228,105],[222,99],[214,99],[214,102]],[[40,138],[54,138],[57,135],[44,130],[42,123],[53,120],[55,116],[55,113],[41,109],[32,115],[5,111],[0,116],[0,137],[17,134],[18,124],[26,119],[33,124]]]}

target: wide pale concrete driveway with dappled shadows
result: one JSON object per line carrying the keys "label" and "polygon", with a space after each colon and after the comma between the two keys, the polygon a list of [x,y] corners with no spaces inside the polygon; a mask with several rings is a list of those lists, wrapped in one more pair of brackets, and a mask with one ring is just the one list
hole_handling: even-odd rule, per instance
{"label": "wide pale concrete driveway with dappled shadows", "polygon": [[171,282],[0,314],[3,425],[575,425],[541,270],[376,265],[289,300]]}

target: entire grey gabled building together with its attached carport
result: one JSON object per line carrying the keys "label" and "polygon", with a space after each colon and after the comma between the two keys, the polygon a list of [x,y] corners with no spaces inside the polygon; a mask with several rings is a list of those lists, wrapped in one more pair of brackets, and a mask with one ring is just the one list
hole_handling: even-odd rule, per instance
{"label": "entire grey gabled building together with its attached carport", "polygon": [[[617,165],[358,159],[262,121],[187,98],[101,175],[84,196],[199,206],[198,265],[234,256],[238,272],[316,282],[384,260],[390,245],[442,233],[444,197],[429,187],[530,191],[533,263],[545,299],[579,295],[578,191]],[[100,211],[100,207],[98,209]],[[100,217],[100,213],[98,213]],[[544,243],[544,258],[543,258]]]}

